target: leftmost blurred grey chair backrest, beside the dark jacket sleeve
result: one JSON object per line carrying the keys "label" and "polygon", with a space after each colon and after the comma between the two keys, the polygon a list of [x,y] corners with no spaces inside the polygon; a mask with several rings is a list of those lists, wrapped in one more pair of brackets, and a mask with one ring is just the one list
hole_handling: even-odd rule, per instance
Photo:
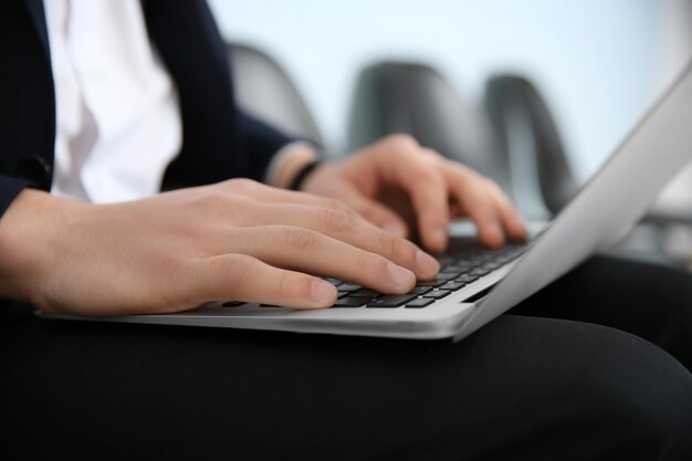
{"label": "leftmost blurred grey chair backrest, beside the dark jacket sleeve", "polygon": [[307,104],[279,62],[247,44],[230,43],[228,49],[240,107],[289,135],[322,146],[319,128]]}

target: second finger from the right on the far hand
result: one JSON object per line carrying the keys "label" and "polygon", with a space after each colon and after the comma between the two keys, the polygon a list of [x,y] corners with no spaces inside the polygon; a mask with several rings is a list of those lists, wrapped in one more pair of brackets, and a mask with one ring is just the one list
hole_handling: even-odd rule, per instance
{"label": "second finger from the right on the far hand", "polygon": [[489,192],[487,180],[458,164],[444,168],[444,171],[452,197],[475,223],[479,240],[487,247],[501,247],[504,243],[504,231],[496,198]]}

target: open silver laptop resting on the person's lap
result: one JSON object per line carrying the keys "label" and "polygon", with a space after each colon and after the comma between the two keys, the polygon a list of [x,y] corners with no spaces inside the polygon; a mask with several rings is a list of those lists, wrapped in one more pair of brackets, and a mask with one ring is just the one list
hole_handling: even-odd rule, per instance
{"label": "open silver laptop resting on the person's lap", "polygon": [[598,174],[527,243],[485,250],[452,226],[438,279],[420,282],[407,295],[329,280],[339,298],[325,310],[228,301],[177,314],[98,321],[459,340],[617,242],[690,159],[692,61]]}

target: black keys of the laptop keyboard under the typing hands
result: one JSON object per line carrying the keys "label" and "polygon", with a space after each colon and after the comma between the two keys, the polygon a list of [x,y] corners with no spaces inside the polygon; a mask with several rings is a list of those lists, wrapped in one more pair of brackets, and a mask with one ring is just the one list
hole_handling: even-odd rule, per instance
{"label": "black keys of the laptop keyboard under the typing hands", "polygon": [[[490,250],[469,239],[452,238],[447,253],[438,256],[440,262],[438,276],[433,280],[419,281],[407,294],[388,295],[336,279],[324,280],[338,291],[338,298],[333,308],[423,308],[517,259],[526,251],[527,245],[528,242],[510,242],[503,248]],[[229,301],[223,303],[223,306],[233,307],[242,304],[244,303]],[[279,307],[270,304],[261,306]]]}

